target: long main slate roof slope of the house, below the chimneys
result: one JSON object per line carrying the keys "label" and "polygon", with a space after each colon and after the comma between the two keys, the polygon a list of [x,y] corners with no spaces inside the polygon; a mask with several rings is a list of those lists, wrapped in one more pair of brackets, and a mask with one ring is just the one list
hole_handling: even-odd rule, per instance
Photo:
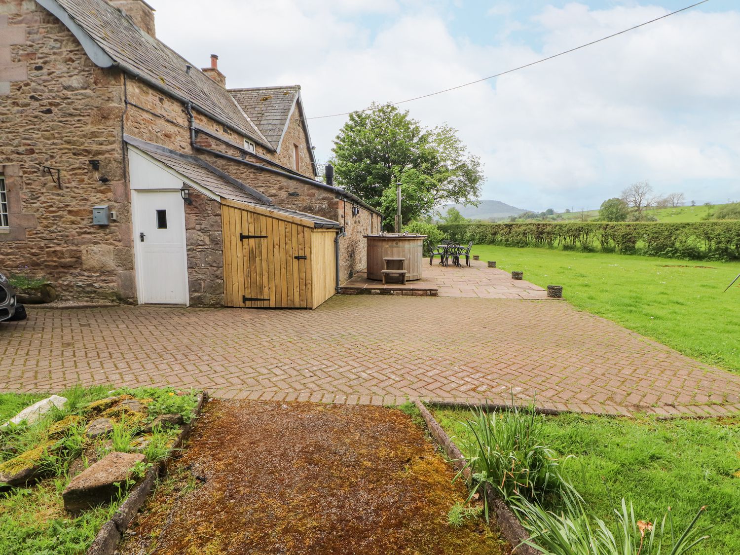
{"label": "long main slate roof slope of the house, below the chimneys", "polygon": [[[215,116],[215,119],[271,148],[270,142],[226,89],[164,42],[144,33],[121,10],[105,0],[56,2],[121,69],[142,75],[153,87],[191,101],[198,111]],[[186,71],[188,65],[192,68],[189,73]]]}

